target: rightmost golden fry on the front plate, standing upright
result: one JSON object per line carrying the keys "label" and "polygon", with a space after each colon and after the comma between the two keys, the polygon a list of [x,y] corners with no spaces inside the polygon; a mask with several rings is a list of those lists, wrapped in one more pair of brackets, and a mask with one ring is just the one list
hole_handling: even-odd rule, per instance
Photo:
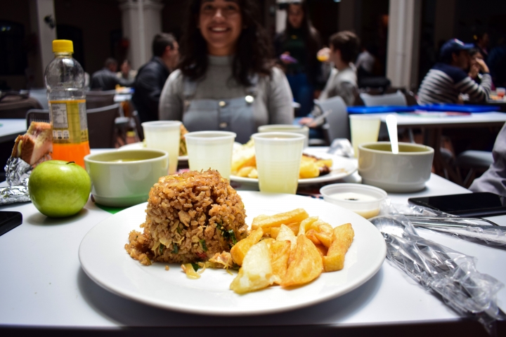
{"label": "rightmost golden fry on the front plate, standing upright", "polygon": [[355,232],[351,223],[345,223],[334,228],[332,233],[332,244],[327,251],[327,256],[323,256],[323,267],[325,272],[333,272],[335,270],[342,270],[344,267],[344,256],[348,251]]}

